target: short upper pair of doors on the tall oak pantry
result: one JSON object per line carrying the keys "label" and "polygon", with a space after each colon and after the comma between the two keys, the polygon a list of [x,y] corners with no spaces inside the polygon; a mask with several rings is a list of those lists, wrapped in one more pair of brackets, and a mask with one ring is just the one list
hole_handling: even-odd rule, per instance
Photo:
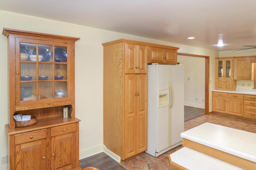
{"label": "short upper pair of doors on the tall oak pantry", "polygon": [[126,43],[124,44],[125,73],[148,72],[148,46]]}

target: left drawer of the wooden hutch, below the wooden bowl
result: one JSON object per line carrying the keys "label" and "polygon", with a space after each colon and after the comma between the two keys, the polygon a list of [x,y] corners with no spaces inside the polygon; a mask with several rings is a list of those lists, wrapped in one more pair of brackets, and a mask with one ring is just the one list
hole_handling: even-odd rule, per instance
{"label": "left drawer of the wooden hutch, below the wooden bowl", "polygon": [[44,139],[47,136],[47,130],[42,129],[42,130],[36,130],[33,132],[27,132],[27,133],[22,133],[22,134],[16,134],[14,135],[14,144],[22,144],[26,142],[32,142],[35,140],[39,139]]}

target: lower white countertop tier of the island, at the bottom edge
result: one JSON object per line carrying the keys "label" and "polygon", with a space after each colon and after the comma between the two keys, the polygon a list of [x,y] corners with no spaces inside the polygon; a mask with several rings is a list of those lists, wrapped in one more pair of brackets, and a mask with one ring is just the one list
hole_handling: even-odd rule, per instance
{"label": "lower white countertop tier of the island, at the bottom edge", "polygon": [[170,154],[172,162],[189,170],[242,170],[216,158],[202,154],[187,147]]}

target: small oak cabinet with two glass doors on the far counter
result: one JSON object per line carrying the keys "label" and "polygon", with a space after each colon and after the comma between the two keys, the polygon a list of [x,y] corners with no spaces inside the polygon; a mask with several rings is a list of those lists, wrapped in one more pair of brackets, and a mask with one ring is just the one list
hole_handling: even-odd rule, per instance
{"label": "small oak cabinet with two glass doors on the far counter", "polygon": [[236,80],[233,80],[233,57],[215,59],[216,90],[235,90]]}

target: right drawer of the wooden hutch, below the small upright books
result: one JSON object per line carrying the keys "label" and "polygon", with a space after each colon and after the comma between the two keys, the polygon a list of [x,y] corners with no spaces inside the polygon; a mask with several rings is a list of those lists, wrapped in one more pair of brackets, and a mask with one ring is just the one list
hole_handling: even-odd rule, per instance
{"label": "right drawer of the wooden hutch, below the small upright books", "polygon": [[51,136],[57,136],[60,134],[67,134],[70,132],[76,131],[76,124],[66,124],[62,126],[56,126],[54,128],[51,128]]}

